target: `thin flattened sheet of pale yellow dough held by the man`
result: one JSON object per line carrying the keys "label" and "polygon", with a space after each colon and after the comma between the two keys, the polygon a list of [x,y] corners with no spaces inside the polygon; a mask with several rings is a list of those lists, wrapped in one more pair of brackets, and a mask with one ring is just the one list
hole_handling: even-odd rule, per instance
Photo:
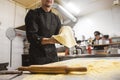
{"label": "thin flattened sheet of pale yellow dough held by the man", "polygon": [[75,41],[72,28],[69,26],[61,27],[59,34],[53,35],[52,37],[55,38],[59,43],[61,43],[62,45],[68,48],[71,48],[77,44]]}

